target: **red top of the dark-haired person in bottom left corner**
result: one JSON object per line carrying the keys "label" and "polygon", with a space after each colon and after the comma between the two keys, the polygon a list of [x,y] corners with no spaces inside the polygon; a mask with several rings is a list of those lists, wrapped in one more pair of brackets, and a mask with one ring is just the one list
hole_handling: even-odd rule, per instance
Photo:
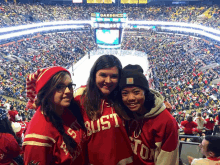
{"label": "red top of the dark-haired person in bottom left corner", "polygon": [[20,154],[21,149],[14,136],[9,133],[0,133],[0,144],[0,164],[15,163],[12,159]]}

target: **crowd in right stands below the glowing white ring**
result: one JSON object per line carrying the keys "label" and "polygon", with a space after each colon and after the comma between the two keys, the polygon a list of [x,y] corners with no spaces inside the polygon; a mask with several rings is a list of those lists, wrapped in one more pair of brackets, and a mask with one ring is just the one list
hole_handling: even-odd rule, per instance
{"label": "crowd in right stands below the glowing white ring", "polygon": [[[133,33],[134,34],[134,33]],[[152,86],[172,105],[177,121],[185,120],[186,111],[193,117],[201,112],[206,118],[219,111],[219,51],[213,42],[187,35],[155,33],[124,36],[124,50],[148,54]],[[210,65],[212,64],[212,65]]]}

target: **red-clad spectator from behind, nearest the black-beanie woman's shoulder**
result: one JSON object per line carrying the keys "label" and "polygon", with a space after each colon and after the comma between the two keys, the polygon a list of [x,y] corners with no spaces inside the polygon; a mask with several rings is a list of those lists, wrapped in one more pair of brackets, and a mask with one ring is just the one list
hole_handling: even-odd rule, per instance
{"label": "red-clad spectator from behind, nearest the black-beanie woman's shoulder", "polygon": [[192,120],[192,116],[188,116],[187,120],[182,121],[181,126],[183,126],[185,135],[194,135],[197,132],[195,128],[198,125]]}

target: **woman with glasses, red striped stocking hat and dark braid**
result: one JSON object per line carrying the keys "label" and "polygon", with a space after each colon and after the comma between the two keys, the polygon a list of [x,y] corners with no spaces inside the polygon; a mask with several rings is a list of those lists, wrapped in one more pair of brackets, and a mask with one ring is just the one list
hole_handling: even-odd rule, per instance
{"label": "woman with glasses, red striped stocking hat and dark braid", "polygon": [[25,165],[86,164],[85,126],[70,73],[49,67],[38,69],[26,81],[29,105],[37,98],[22,144]]}

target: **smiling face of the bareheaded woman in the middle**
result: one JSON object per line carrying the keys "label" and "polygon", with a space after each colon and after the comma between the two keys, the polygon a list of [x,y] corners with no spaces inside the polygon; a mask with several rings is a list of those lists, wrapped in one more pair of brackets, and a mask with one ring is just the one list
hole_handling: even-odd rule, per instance
{"label": "smiling face of the bareheaded woman in the middle", "polygon": [[108,96],[118,85],[117,67],[98,70],[96,72],[96,85],[104,96]]}

